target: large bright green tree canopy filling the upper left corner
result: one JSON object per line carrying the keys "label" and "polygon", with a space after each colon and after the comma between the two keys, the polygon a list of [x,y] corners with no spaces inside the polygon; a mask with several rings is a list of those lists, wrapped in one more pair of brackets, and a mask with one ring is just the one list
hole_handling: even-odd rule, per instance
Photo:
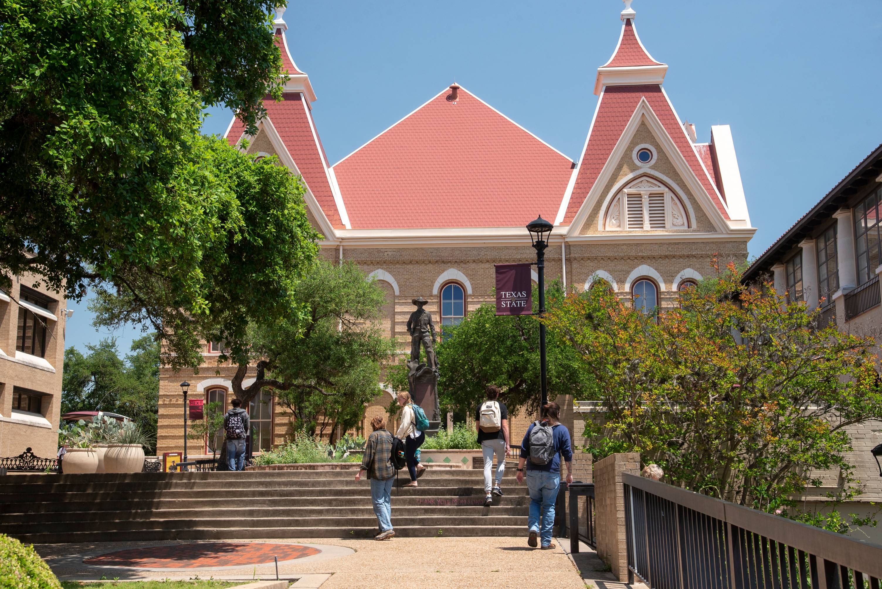
{"label": "large bright green tree canopy filling the upper left corner", "polygon": [[241,352],[247,324],[295,312],[316,253],[303,188],[200,135],[206,104],[254,131],[280,99],[275,4],[0,4],[0,287],[22,272],[73,299],[96,287],[173,366],[197,365],[206,334]]}

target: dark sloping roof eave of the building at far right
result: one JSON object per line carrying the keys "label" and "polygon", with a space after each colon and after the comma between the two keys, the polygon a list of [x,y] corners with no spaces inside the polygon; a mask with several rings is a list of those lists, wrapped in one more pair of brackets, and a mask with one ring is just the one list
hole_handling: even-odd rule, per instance
{"label": "dark sloping roof eave of the building at far right", "polygon": [[[784,235],[781,235],[776,242],[769,246],[769,248],[764,251],[753,264],[751,264],[751,267],[744,272],[742,281],[748,282],[750,280],[755,280],[759,274],[768,272],[772,266],[781,259],[781,256],[787,253],[787,251],[793,248],[797,243],[801,242],[819,222],[829,219],[833,212],[844,205],[848,201],[848,198],[851,198],[856,193],[857,190],[852,186],[852,183],[861,179],[864,173],[871,168],[875,168],[879,173],[882,173],[882,145],[878,145],[870,155],[865,157],[861,163],[848,173],[848,175],[842,178],[842,180],[833,187],[833,190],[827,192],[826,196],[821,198],[817,205],[811,207],[809,212],[806,212],[796,221],[796,223],[793,224],[793,227],[790,227]],[[875,177],[871,178],[871,182],[874,181]],[[865,185],[866,184],[864,183],[861,188]]]}

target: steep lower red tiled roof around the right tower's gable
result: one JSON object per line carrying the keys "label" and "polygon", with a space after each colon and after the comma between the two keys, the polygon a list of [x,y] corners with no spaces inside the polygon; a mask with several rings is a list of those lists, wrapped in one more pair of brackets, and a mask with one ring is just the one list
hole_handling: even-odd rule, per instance
{"label": "steep lower red tiled roof around the right tower's gable", "polygon": [[717,197],[714,183],[705,174],[698,156],[692,151],[692,146],[674,114],[674,109],[662,92],[662,86],[606,86],[597,104],[594,126],[587,141],[585,154],[582,156],[579,175],[573,185],[572,196],[564,215],[564,225],[568,225],[579,212],[579,207],[585,202],[588,191],[594,186],[597,176],[609,160],[609,154],[622,136],[624,127],[631,120],[641,98],[647,99],[655,116],[658,116],[665,130],[668,131],[668,135],[683,154],[692,172],[698,176],[699,182],[714,201],[714,205],[723,218],[728,220],[729,215],[720,198]]}

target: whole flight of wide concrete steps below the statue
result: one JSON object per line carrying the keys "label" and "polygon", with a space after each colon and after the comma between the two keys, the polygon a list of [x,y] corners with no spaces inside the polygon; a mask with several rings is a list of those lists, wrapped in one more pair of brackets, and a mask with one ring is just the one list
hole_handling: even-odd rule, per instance
{"label": "whole flight of wide concrete steps below the statue", "polygon": [[[35,544],[368,538],[377,518],[355,472],[6,475],[0,533]],[[529,497],[514,474],[506,469],[505,496],[483,507],[482,471],[430,467],[418,488],[392,490],[396,535],[525,534]],[[402,472],[399,484],[408,481]]]}

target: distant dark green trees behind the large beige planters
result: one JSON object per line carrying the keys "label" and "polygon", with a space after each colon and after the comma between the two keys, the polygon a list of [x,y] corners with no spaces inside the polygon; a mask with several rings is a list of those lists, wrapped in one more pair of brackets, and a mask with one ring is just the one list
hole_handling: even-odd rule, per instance
{"label": "distant dark green trees behind the large beige planters", "polygon": [[64,350],[62,414],[108,411],[130,417],[150,436],[155,448],[159,411],[160,353],[152,336],[131,343],[131,353],[119,357],[116,339]]}

